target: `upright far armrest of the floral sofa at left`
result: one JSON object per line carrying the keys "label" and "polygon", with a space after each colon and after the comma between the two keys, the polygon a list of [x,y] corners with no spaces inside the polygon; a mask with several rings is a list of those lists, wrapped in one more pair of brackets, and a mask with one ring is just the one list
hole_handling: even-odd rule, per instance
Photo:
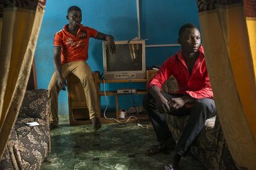
{"label": "upright far armrest of the floral sofa at left", "polygon": [[19,118],[40,118],[49,121],[49,98],[46,89],[25,92]]}

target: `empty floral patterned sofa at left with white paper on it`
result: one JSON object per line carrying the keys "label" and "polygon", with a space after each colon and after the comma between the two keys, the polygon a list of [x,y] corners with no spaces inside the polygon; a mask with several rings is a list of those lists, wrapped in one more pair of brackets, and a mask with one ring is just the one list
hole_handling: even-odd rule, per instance
{"label": "empty floral patterned sofa at left with white paper on it", "polygon": [[[26,123],[36,121],[39,126]],[[50,150],[49,99],[45,89],[27,91],[0,169],[40,169]]]}

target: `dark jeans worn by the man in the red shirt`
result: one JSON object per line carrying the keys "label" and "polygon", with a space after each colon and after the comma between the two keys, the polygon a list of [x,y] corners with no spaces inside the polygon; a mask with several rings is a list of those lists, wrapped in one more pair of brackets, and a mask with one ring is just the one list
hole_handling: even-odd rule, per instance
{"label": "dark jeans worn by the man in the red shirt", "polygon": [[[167,100],[182,96],[182,94],[168,94],[165,92],[162,92],[162,94]],[[167,139],[173,139],[173,136],[169,131],[169,127],[164,119],[164,115],[158,110],[153,96],[146,94],[143,99],[143,106],[151,119],[158,142],[163,143]],[[177,110],[169,112],[168,114],[174,116],[189,115],[187,124],[182,130],[181,138],[178,140],[175,148],[179,155],[186,155],[190,146],[205,126],[206,119],[216,115],[216,108],[213,99],[205,98],[198,99],[191,108],[181,107]]]}

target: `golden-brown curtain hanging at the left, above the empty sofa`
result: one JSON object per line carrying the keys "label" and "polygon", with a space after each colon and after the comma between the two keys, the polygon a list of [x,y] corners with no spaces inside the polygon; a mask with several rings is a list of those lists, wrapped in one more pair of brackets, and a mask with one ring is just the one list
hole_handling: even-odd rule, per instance
{"label": "golden-brown curtain hanging at the left, above the empty sofa", "polygon": [[0,1],[0,155],[22,104],[46,0]]}

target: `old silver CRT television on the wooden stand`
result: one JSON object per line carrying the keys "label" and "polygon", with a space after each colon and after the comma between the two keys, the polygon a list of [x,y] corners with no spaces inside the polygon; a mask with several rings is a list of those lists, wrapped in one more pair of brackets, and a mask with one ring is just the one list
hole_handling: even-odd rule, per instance
{"label": "old silver CRT television on the wooden stand", "polygon": [[115,41],[116,54],[111,54],[103,41],[105,79],[146,78],[145,40]]}

